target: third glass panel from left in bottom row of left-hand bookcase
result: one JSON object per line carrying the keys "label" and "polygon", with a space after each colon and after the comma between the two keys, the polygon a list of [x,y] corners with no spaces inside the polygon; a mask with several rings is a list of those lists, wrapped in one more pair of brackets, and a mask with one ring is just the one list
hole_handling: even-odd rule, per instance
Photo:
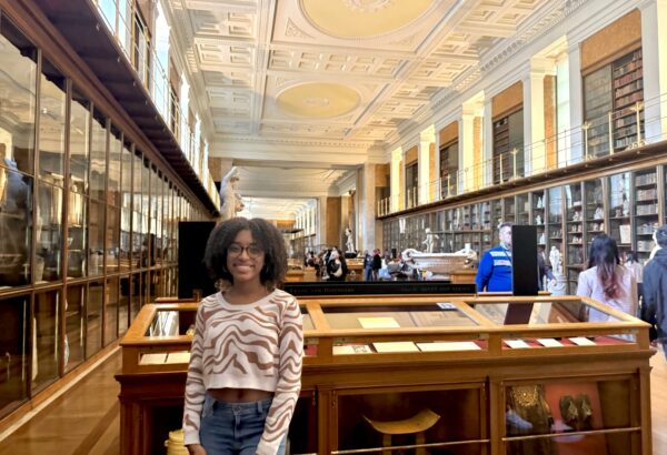
{"label": "third glass panel from left in bottom row of left-hand bookcase", "polygon": [[67,287],[64,301],[64,371],[68,372],[84,360],[83,327],[86,311],[86,285]]}

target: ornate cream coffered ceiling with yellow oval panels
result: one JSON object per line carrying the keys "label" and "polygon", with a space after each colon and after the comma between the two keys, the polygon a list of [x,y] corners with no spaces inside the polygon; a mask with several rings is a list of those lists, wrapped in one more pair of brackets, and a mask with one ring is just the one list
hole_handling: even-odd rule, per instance
{"label": "ornate cream coffered ceiling with yellow oval panels", "polygon": [[[565,3],[168,0],[168,14],[212,156],[243,159],[248,169],[296,160],[349,172],[385,161],[396,134]],[[239,188],[249,196],[300,188],[289,173],[247,178]]]}

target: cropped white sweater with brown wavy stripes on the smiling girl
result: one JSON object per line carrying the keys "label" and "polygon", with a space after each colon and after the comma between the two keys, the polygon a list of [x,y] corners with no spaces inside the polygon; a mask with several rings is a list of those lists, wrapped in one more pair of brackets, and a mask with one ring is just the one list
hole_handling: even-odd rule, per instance
{"label": "cropped white sweater with brown wavy stripes on the smiling girl", "polygon": [[302,316],[280,290],[232,304],[220,292],[201,301],[186,382],[185,443],[199,444],[206,391],[255,388],[273,393],[257,454],[275,454],[287,434],[301,388]]}

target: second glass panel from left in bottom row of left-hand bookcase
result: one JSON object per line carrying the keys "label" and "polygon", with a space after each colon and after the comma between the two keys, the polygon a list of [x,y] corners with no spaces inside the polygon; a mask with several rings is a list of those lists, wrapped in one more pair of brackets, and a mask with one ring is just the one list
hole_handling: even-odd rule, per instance
{"label": "second glass panel from left in bottom row of left-hand bookcase", "polygon": [[34,295],[31,321],[32,368],[31,387],[41,388],[58,377],[60,333],[60,292],[50,291]]}

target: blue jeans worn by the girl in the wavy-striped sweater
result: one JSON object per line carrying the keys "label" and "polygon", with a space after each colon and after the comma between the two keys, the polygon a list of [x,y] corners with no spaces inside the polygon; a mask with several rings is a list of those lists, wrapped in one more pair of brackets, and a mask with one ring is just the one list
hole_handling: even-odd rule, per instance
{"label": "blue jeans worn by the girl in the wavy-striped sweater", "polygon": [[[225,403],[207,393],[199,427],[199,438],[207,454],[253,455],[265,429],[271,401]],[[285,454],[285,438],[278,454]]]}

